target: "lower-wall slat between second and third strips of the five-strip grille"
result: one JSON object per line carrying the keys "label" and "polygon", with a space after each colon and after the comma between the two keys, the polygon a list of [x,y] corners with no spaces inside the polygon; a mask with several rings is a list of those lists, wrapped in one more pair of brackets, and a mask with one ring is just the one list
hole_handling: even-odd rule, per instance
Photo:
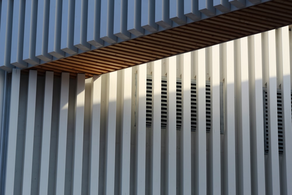
{"label": "lower-wall slat between second and third strips of the five-strip grille", "polygon": [[176,194],[176,56],[169,58],[167,71],[166,194]]}

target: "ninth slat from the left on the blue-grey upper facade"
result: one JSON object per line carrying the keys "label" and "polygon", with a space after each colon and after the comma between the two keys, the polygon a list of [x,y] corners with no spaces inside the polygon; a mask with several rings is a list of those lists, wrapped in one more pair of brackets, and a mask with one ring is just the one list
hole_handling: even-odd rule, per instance
{"label": "ninth slat from the left on the blue-grey upper facade", "polygon": [[100,38],[109,44],[117,42],[114,36],[114,0],[101,0],[100,6]]}

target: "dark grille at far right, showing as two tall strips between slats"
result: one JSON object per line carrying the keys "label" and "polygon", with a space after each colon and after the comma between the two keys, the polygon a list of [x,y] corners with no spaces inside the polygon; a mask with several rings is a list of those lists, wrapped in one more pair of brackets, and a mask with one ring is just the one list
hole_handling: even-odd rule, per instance
{"label": "dark grille at far right, showing as two tall strips between slats", "polygon": [[[264,89],[264,140],[265,151],[269,152],[269,120],[268,120],[268,97],[267,90]],[[292,96],[291,96],[292,97]],[[291,99],[292,100],[292,99]],[[292,104],[292,101],[291,101]],[[277,116],[278,116],[278,145],[279,153],[283,153],[283,121],[282,121],[282,96],[281,91],[277,91]]]}

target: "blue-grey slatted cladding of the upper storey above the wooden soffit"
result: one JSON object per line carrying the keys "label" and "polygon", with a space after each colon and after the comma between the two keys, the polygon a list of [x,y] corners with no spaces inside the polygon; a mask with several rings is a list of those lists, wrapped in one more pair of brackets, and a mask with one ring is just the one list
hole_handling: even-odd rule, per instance
{"label": "blue-grey slatted cladding of the upper storey above the wooden soffit", "polygon": [[267,1],[0,1],[0,68],[30,68]]}

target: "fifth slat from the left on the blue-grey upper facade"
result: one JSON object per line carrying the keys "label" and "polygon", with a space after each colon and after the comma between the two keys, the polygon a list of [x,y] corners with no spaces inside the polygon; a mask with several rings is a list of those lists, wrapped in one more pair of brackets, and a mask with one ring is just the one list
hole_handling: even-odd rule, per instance
{"label": "fifth slat from the left on the blue-grey upper facade", "polygon": [[[65,52],[61,50],[61,1],[50,1],[49,26],[48,26],[48,54],[56,57],[65,57]],[[24,47],[25,48],[25,47]]]}

